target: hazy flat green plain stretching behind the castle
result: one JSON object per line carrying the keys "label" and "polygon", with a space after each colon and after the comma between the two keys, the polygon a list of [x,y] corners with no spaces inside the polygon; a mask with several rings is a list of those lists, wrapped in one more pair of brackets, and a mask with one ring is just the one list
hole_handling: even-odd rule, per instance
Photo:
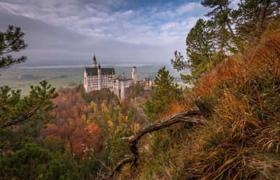
{"label": "hazy flat green plain stretching behind the castle", "polygon": [[[115,67],[116,77],[125,73],[131,78],[130,67]],[[138,67],[137,79],[151,77],[158,71],[158,67]],[[80,83],[83,84],[83,67],[74,68],[52,68],[52,69],[17,69],[9,68],[1,71],[0,85],[9,85],[11,88],[22,90],[22,95],[27,95],[30,85],[38,85],[41,80],[48,81],[55,88],[73,88]]]}

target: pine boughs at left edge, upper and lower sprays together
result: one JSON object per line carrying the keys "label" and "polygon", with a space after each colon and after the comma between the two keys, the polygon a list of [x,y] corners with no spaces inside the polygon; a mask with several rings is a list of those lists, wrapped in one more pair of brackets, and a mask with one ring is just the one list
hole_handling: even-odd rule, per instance
{"label": "pine boughs at left edge, upper and lower sprays together", "polygon": [[[24,35],[20,27],[13,26],[9,26],[6,32],[0,32],[0,70],[27,60],[25,56],[13,58],[9,54],[27,48]],[[40,85],[35,87],[31,85],[30,88],[29,95],[22,98],[20,90],[11,90],[8,86],[0,87],[0,129],[30,120],[44,120],[48,123],[55,118],[48,114],[48,111],[55,109],[51,100],[58,95],[55,88],[46,81],[41,81]]]}

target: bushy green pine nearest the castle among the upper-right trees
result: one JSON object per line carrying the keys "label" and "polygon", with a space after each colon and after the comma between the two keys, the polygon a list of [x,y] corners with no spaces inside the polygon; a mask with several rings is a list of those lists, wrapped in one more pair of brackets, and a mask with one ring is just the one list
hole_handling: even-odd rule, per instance
{"label": "bushy green pine nearest the castle among the upper-right trees", "polygon": [[[209,28],[207,22],[199,19],[195,27],[190,29],[186,39],[187,61],[183,55],[174,52],[175,59],[171,60],[174,69],[177,71],[187,70],[190,74],[181,74],[185,83],[194,83],[200,74],[216,66],[218,58],[214,44],[214,32]],[[188,73],[187,71],[187,73]]]}

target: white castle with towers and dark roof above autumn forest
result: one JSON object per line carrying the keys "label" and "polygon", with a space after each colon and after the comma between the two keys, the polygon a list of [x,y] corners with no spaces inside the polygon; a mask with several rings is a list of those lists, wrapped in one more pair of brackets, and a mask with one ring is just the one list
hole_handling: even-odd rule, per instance
{"label": "white castle with towers and dark roof above autumn forest", "polygon": [[124,74],[116,78],[115,68],[101,68],[100,64],[97,67],[97,60],[94,55],[92,67],[85,67],[84,69],[83,82],[86,92],[109,88],[120,99],[124,99],[125,88],[129,88],[130,85],[137,83],[137,70],[136,67],[132,67],[132,78],[130,79],[125,78]]}

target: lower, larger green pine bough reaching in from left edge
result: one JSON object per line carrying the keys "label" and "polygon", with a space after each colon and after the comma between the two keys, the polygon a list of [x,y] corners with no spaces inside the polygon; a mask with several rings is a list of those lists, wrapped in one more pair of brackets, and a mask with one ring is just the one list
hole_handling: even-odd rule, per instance
{"label": "lower, larger green pine bough reaching in from left edge", "polygon": [[51,100],[57,97],[55,88],[51,88],[47,81],[41,81],[36,87],[31,85],[30,88],[29,96],[21,97],[20,90],[0,87],[0,128],[30,120],[44,120],[48,123],[55,118],[48,114],[48,111],[55,109]]}

